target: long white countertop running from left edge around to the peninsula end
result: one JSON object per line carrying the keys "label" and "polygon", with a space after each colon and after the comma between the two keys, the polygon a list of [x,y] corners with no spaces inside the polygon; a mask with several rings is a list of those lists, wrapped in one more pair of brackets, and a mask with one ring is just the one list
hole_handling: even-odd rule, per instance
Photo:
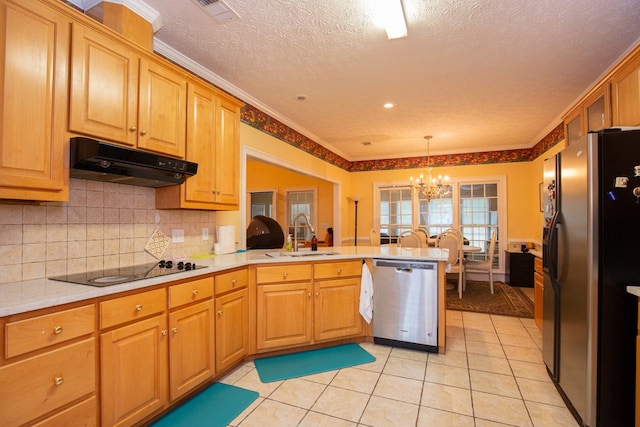
{"label": "long white countertop running from left edge around to the peninsula end", "polygon": [[[0,284],[0,317],[11,314],[24,313],[31,310],[53,307],[77,301],[89,300],[119,292],[142,289],[161,283],[182,280],[189,277],[202,276],[236,267],[252,264],[270,264],[282,262],[329,261],[338,259],[357,258],[393,258],[419,259],[429,261],[446,261],[447,251],[438,248],[398,248],[395,245],[383,246],[336,246],[322,247],[321,252],[337,252],[336,255],[310,255],[272,258],[267,252],[277,252],[275,249],[251,250],[228,255],[212,255],[209,258],[191,258],[188,261],[206,268],[170,274],[152,279],[137,280],[107,287],[78,285],[48,279],[35,279],[15,283]],[[185,261],[187,261],[185,259]]]}

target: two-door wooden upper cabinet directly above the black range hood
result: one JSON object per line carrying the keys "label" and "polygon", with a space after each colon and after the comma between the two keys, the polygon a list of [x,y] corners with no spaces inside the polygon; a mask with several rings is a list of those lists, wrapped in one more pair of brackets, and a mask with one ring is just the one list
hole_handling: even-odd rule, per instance
{"label": "two-door wooden upper cabinet directly above the black range hood", "polygon": [[184,158],[186,78],[74,24],[69,129]]}

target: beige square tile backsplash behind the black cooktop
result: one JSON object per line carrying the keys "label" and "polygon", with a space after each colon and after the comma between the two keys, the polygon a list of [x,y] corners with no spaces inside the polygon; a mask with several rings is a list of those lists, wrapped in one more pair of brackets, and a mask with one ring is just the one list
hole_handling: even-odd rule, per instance
{"label": "beige square tile backsplash behind the black cooktop", "polygon": [[71,179],[68,202],[0,204],[0,283],[154,262],[156,227],[184,230],[162,258],[209,253],[215,225],[215,212],[155,209],[153,188]]}

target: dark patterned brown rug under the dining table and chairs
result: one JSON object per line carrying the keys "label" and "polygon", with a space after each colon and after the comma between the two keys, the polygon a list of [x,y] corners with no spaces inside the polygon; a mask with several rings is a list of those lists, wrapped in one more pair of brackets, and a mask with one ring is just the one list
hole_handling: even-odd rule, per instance
{"label": "dark patterned brown rug under the dining table and chairs", "polygon": [[456,283],[454,289],[447,291],[447,309],[533,319],[533,302],[520,288],[493,282],[493,290],[491,295],[489,282],[469,280],[460,299]]}

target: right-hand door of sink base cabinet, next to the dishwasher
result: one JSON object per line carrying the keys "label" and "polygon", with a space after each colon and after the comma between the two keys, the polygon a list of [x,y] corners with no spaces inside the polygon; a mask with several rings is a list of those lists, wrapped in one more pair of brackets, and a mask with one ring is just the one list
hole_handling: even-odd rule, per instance
{"label": "right-hand door of sink base cabinet, next to the dishwasher", "polygon": [[316,341],[358,335],[360,279],[323,280],[315,283],[314,334]]}

